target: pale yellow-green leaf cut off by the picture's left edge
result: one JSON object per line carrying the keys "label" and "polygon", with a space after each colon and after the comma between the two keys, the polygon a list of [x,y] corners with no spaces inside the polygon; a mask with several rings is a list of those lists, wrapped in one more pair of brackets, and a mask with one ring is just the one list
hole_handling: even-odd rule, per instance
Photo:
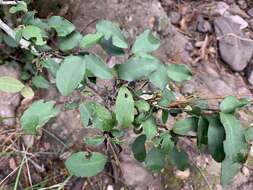
{"label": "pale yellow-green leaf cut off by the picture's left edge", "polygon": [[25,85],[19,80],[9,77],[2,76],[0,77],[0,91],[9,92],[9,93],[17,93],[20,92]]}

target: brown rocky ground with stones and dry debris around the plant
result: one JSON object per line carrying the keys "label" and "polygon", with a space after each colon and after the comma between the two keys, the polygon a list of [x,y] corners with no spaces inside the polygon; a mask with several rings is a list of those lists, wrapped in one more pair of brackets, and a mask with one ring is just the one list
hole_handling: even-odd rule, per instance
{"label": "brown rocky ground with stones and dry debris around the plant", "polygon": [[[48,2],[51,2],[47,0]],[[217,106],[216,98],[227,95],[253,99],[253,2],[246,0],[72,0],[54,1],[60,9],[53,9],[50,3],[34,5],[40,16],[52,12],[68,17],[82,33],[94,30],[94,22],[108,19],[119,23],[129,37],[130,42],[144,29],[152,29],[161,39],[162,45],[156,55],[169,63],[185,63],[194,73],[192,81],[177,87],[180,95],[196,94],[210,100]],[[47,11],[45,11],[47,10]],[[99,48],[94,51],[114,65],[124,58],[107,57]],[[15,66],[15,65],[14,65]],[[15,66],[17,67],[17,66]],[[19,69],[13,66],[0,66],[0,75],[19,76]],[[99,90],[106,93],[112,84],[98,84]],[[56,89],[41,91],[39,97],[59,100]],[[73,99],[78,98],[78,95]],[[92,97],[96,98],[96,97]],[[99,101],[99,100],[98,100]],[[21,101],[17,95],[5,95],[0,92],[0,115],[18,116],[29,102]],[[243,124],[253,121],[252,108],[239,114]],[[30,150],[33,155],[33,181],[48,179],[50,183],[61,182],[66,175],[63,160],[74,150],[84,149],[82,139],[97,131],[84,129],[79,123],[76,111],[62,113],[46,126],[36,139],[22,137],[24,142],[33,143]],[[5,151],[15,152],[19,142],[19,131],[13,126],[15,119],[8,120],[0,128],[0,142]],[[55,138],[56,136],[56,138]],[[129,144],[133,134],[128,134]],[[60,141],[60,143],[59,143]],[[191,167],[180,172],[172,166],[161,174],[152,175],[136,162],[129,147],[123,147],[119,155],[121,172],[110,174],[108,170],[94,179],[72,179],[69,189],[222,189],[219,185],[220,164],[196,149],[193,140],[182,139],[180,143],[190,155]],[[97,147],[103,149],[104,147]],[[48,154],[45,154],[48,153]],[[110,151],[109,151],[110,153]],[[252,153],[253,154],[253,153]],[[20,157],[13,154],[0,156],[0,181],[11,173]],[[253,189],[252,158],[247,167],[236,176],[234,183],[225,189]],[[252,165],[253,167],[253,165]],[[25,170],[24,170],[25,171]],[[137,174],[137,175],[136,175]],[[52,176],[54,179],[52,180]],[[15,180],[15,178],[9,179]],[[27,179],[23,179],[24,183]],[[3,189],[8,186],[3,186]],[[1,188],[0,188],[1,189]]]}

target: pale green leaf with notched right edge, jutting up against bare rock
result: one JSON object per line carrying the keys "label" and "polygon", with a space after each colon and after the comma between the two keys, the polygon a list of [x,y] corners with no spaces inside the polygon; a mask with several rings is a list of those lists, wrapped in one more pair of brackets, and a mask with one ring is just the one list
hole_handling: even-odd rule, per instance
{"label": "pale green leaf with notched right edge, jutting up against bare rock", "polygon": [[134,42],[132,52],[138,53],[149,53],[159,48],[160,41],[153,36],[150,30],[145,30],[140,34]]}

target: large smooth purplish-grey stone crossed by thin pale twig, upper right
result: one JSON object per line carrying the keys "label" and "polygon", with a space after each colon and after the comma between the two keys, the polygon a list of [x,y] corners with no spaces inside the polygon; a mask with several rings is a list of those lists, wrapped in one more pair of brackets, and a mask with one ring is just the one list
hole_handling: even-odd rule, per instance
{"label": "large smooth purplish-grey stone crossed by thin pale twig, upper right", "polygon": [[253,54],[253,43],[239,39],[240,37],[249,38],[240,30],[240,26],[230,18],[223,16],[216,18],[214,27],[219,38],[219,52],[222,60],[234,71],[245,69]]}

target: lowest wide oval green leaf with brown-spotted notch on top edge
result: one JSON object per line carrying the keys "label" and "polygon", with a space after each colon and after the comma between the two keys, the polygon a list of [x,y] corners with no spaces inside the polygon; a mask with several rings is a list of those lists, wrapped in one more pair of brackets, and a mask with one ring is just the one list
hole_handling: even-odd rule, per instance
{"label": "lowest wide oval green leaf with brown-spotted notch on top edge", "polygon": [[77,177],[92,177],[103,171],[106,164],[106,157],[93,152],[77,152],[72,154],[65,162],[65,166],[71,175]]}

